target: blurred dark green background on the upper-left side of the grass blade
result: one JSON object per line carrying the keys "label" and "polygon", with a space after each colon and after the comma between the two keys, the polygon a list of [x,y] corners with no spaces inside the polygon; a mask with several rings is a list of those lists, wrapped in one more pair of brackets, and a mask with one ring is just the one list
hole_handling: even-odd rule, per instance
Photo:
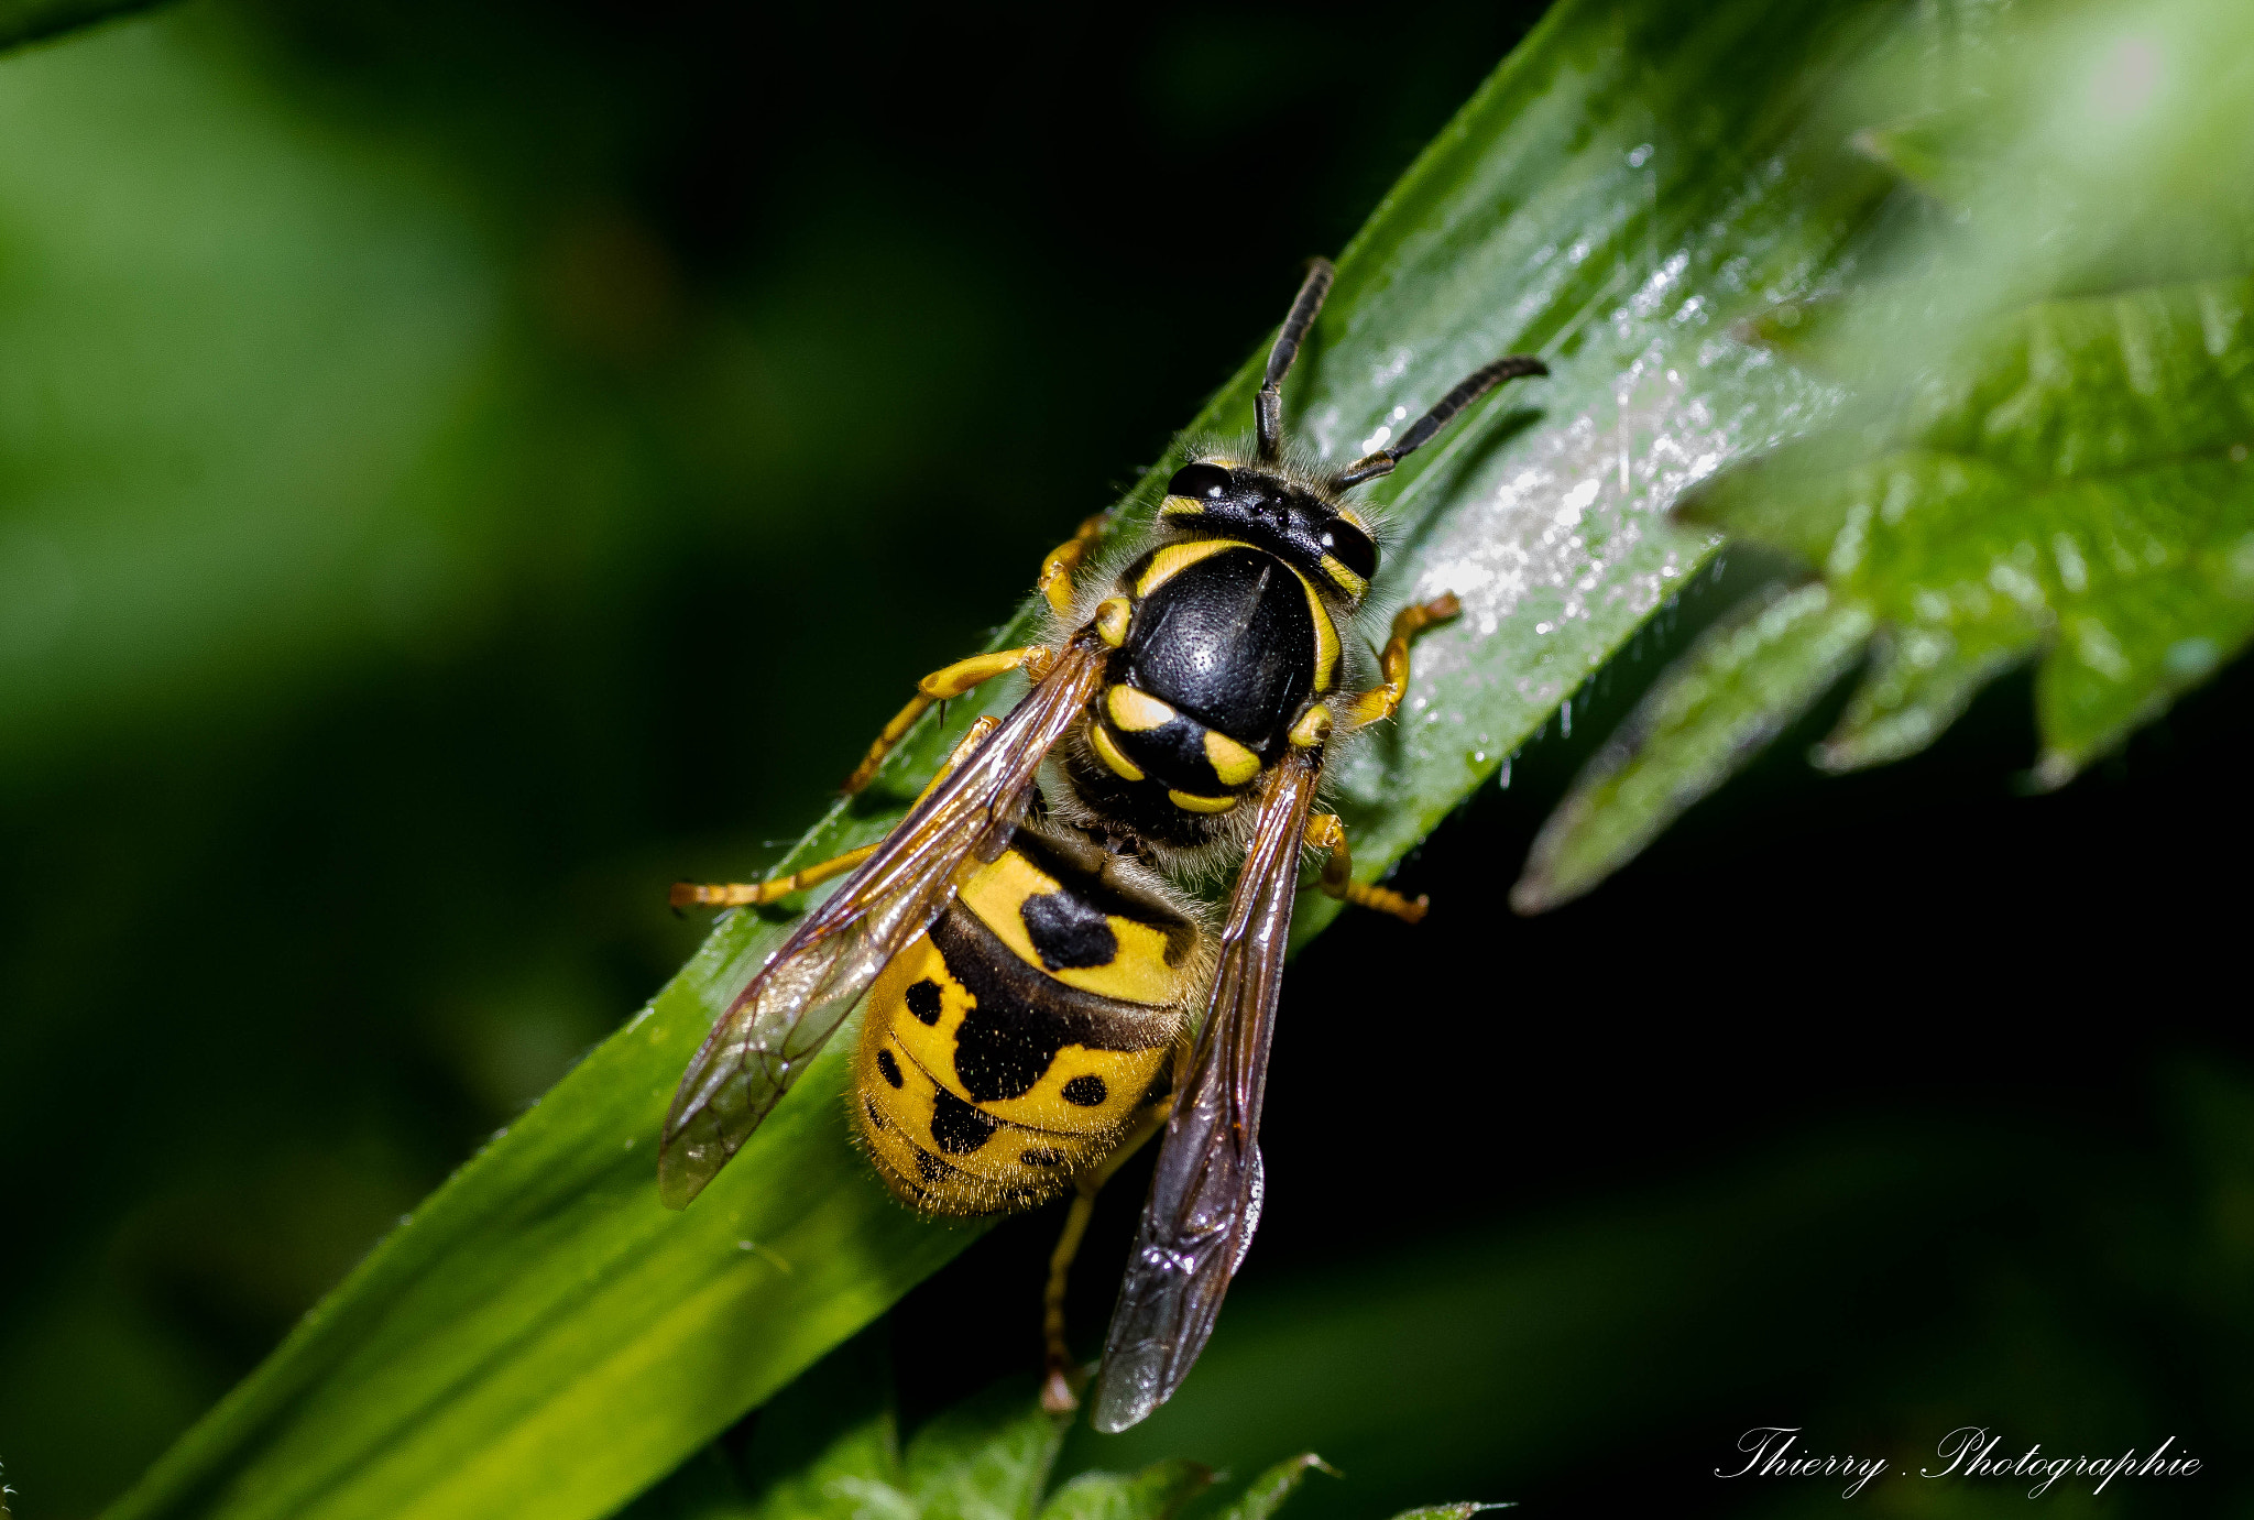
{"label": "blurred dark green background on the upper-left side of the grass blade", "polygon": [[1528,20],[1364,77],[1350,7],[198,2],[0,61],[20,1511],[636,1008],[665,884],[771,859]]}

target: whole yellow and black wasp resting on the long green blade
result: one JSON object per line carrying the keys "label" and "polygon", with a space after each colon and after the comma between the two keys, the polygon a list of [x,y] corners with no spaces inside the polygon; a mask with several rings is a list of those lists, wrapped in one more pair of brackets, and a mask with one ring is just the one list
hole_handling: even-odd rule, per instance
{"label": "whole yellow and black wasp resting on the long green blade", "polygon": [[[1163,1132],[1104,1358],[1093,1425],[1174,1394],[1260,1222],[1260,1105],[1303,852],[1321,889],[1409,922],[1425,900],[1352,880],[1346,828],[1316,810],[1325,762],[1391,719],[1418,631],[1454,595],[1359,636],[1377,575],[1348,492],[1393,471],[1494,386],[1497,359],[1397,442],[1323,471],[1285,451],[1283,379],[1330,293],[1316,259],[1269,352],[1251,453],[1192,449],[1150,528],[1091,564],[1098,514],[1048,555],[1039,643],[938,670],[848,780],[938,701],[1021,672],[884,841],[674,902],[773,902],[834,875],[710,1037],[665,1116],[660,1195],[685,1207],[791,1080],[866,1008],[852,1123],[877,1175],[926,1213],[1028,1209],[1073,1191],[1046,1299],[1055,1409],[1077,1403],[1064,1281],[1095,1188]],[[1215,918],[1199,886],[1237,866]],[[1195,1031],[1195,1049],[1190,1033]]]}

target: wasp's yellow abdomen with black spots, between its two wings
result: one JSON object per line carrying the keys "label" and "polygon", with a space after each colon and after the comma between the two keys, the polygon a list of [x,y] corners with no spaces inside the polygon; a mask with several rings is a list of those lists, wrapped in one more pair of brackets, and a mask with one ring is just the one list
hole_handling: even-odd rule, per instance
{"label": "wasp's yellow abdomen with black spots, between its two wings", "polygon": [[870,988],[854,1121],[933,1213],[1021,1209],[1170,1092],[1197,927],[1021,830]]}

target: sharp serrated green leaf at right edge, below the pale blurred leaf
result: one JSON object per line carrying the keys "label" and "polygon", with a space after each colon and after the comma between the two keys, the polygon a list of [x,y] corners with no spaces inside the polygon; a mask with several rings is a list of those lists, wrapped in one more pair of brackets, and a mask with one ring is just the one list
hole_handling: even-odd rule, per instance
{"label": "sharp serrated green leaf at right edge, below the pale blurred leaf", "polygon": [[1740,471],[1690,505],[1803,553],[1889,629],[1823,765],[1923,746],[2040,649],[2056,785],[2245,647],[2249,309],[2245,277],[2029,307],[1873,458]]}

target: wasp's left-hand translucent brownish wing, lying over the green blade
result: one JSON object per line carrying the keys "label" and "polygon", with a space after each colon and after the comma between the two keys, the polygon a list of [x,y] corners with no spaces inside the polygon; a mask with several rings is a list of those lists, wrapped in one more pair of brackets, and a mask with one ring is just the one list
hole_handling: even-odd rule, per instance
{"label": "wasp's left-hand translucent brownish wing, lying over the green blade", "polygon": [[1041,758],[1102,681],[1095,649],[1055,670],[899,821],[766,958],[712,1026],[665,1114],[658,1195],[681,1209],[728,1164],[845,1022],[884,963],[931,927],[969,871],[1001,855]]}

